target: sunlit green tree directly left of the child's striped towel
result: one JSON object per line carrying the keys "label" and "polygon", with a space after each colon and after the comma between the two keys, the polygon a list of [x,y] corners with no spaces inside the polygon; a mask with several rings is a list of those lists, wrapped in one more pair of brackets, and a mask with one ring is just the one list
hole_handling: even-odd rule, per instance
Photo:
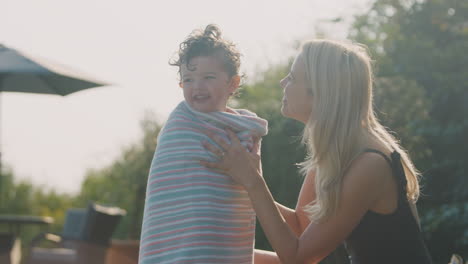
{"label": "sunlit green tree directly left of the child's striped towel", "polygon": [[110,166],[88,171],[75,202],[79,207],[94,201],[125,209],[127,215],[115,234],[119,238],[140,238],[148,172],[161,126],[148,115],[141,127],[143,138],[125,148]]}

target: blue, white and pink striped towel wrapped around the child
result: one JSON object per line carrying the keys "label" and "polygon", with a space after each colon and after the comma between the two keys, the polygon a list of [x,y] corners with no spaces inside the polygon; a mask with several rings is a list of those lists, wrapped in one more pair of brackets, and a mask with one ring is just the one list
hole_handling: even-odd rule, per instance
{"label": "blue, white and pink striped towel wrapped around the child", "polygon": [[251,149],[267,121],[247,110],[202,113],[185,101],[170,114],[158,137],[146,190],[139,263],[252,263],[255,212],[247,192],[199,160],[218,159],[203,131],[228,141],[234,131]]}

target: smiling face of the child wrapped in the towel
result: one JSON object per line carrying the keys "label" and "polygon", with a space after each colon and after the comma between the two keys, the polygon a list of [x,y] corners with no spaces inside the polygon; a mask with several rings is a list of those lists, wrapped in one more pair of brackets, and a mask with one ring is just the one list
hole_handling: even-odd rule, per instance
{"label": "smiling face of the child wrapped in the towel", "polygon": [[198,56],[180,67],[180,87],[185,101],[200,112],[225,111],[229,95],[239,86],[239,76],[229,77],[214,56]]}

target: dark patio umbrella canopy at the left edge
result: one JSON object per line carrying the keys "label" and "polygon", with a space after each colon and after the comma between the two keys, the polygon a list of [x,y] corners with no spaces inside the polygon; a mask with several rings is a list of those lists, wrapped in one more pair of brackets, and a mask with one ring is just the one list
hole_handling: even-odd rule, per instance
{"label": "dark patio umbrella canopy at the left edge", "polygon": [[[85,76],[76,69],[32,57],[0,44],[0,92],[65,96],[103,85],[107,84]],[[1,168],[0,150],[0,171]],[[0,182],[0,194],[1,186]]]}

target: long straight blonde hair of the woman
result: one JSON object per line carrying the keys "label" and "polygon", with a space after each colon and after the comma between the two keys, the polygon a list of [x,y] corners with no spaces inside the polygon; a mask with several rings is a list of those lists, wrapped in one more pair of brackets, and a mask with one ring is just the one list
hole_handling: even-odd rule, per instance
{"label": "long straight blonde hair of the woman", "polygon": [[311,220],[333,215],[340,200],[346,169],[370,139],[400,153],[405,168],[407,197],[419,196],[419,172],[398,141],[379,123],[372,106],[371,59],[363,45],[313,40],[302,45],[312,111],[303,143],[309,155],[302,172],[315,169],[316,199],[304,209]]}

